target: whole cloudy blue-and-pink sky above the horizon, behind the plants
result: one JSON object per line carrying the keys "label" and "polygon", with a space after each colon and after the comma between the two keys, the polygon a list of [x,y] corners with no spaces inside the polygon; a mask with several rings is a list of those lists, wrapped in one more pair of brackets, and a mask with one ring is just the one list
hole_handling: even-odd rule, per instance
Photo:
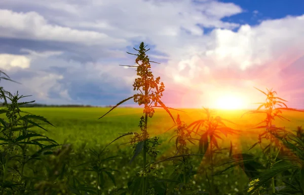
{"label": "whole cloudy blue-and-pink sky above the horizon, behind the plants", "polygon": [[0,16],[0,70],[21,83],[0,85],[36,103],[132,96],[135,69],[119,64],[143,41],[167,106],[256,108],[257,87],[304,108],[302,0],[1,0]]}

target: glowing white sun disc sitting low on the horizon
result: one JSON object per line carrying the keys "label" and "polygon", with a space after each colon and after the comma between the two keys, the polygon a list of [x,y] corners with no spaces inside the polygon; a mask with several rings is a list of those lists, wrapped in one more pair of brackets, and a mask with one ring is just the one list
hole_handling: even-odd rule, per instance
{"label": "glowing white sun disc sitting low on the horizon", "polygon": [[237,110],[244,108],[244,101],[237,95],[222,95],[215,101],[216,109]]}

